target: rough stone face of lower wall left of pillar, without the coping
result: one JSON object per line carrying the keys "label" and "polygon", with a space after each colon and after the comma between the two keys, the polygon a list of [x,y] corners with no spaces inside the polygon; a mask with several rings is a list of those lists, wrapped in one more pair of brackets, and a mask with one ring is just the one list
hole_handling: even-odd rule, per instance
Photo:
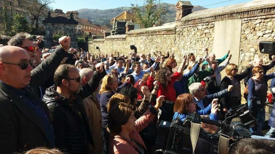
{"label": "rough stone face of lower wall left of pillar, without the coping", "polygon": [[[89,42],[89,51],[91,53],[98,54],[96,47],[100,48],[101,54],[115,54],[119,52],[120,54],[128,55],[128,53],[133,52],[130,49],[130,45],[135,45],[138,49],[138,54],[140,53],[151,53],[156,51],[162,52],[178,52],[178,48],[175,48],[175,34],[168,34],[165,32],[162,35],[134,35],[134,36],[123,36],[119,40],[117,35],[108,36],[107,39],[98,41],[98,39]],[[116,39],[116,40],[115,40]]]}

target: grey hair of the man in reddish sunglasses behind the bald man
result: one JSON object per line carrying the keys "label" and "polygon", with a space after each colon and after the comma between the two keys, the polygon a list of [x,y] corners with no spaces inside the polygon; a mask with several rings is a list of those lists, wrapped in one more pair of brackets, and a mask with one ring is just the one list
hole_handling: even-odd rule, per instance
{"label": "grey hair of the man in reddish sunglasses behind the bald man", "polygon": [[8,45],[12,46],[22,46],[24,40],[30,40],[33,41],[32,36],[29,33],[18,33],[14,35],[11,40],[8,41]]}

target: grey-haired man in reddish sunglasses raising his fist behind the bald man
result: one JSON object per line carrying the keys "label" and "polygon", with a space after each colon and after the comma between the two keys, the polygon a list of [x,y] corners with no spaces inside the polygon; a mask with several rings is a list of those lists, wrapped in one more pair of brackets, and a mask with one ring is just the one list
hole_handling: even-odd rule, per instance
{"label": "grey-haired man in reddish sunglasses raising his fist behind the bald man", "polygon": [[[70,48],[71,38],[63,36],[59,39],[59,43],[60,45],[55,49],[55,51],[31,72],[32,77],[29,86],[34,90],[38,97],[41,97],[42,93],[36,89],[43,86],[43,84],[45,84],[44,89],[48,88],[49,86],[46,82],[48,82],[48,79],[53,76],[55,69],[60,65],[63,58],[69,57],[70,55],[67,51]],[[28,33],[16,34],[8,41],[8,45],[21,47],[27,51],[31,60],[33,59],[32,56],[36,55],[33,39]],[[72,53],[73,51],[70,52]],[[32,61],[32,63],[34,62]]]}

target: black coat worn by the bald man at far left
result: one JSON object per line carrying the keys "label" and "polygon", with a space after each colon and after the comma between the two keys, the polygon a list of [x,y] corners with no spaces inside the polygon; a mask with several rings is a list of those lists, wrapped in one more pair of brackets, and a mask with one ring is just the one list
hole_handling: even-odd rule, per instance
{"label": "black coat worn by the bald man at far left", "polygon": [[[32,99],[40,103],[49,117],[47,105],[27,87]],[[22,103],[20,96],[0,83],[0,153],[24,152],[35,147],[48,147],[53,136],[46,136],[42,120]]]}

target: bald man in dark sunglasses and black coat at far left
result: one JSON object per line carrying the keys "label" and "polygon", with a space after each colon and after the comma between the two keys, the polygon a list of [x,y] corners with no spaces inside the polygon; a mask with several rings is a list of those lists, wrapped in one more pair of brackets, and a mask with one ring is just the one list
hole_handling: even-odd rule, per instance
{"label": "bald man in dark sunglasses and black coat at far left", "polygon": [[54,147],[47,105],[28,86],[41,68],[31,65],[24,49],[0,48],[0,153]]}

